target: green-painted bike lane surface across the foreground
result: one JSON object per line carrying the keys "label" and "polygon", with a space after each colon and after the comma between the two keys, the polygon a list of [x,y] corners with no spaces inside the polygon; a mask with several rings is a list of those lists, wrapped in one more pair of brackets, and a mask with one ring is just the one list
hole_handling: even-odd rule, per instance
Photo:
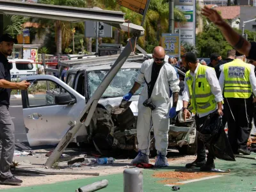
{"label": "green-painted bike lane surface across the foreground", "polygon": [[[246,157],[256,157],[256,154],[246,156]],[[198,169],[188,170],[184,168],[184,164],[170,164],[170,166],[162,169],[152,169],[152,170],[142,170],[143,171],[143,191],[172,191],[172,186],[166,186],[166,184],[176,184],[180,186],[179,191],[256,191],[256,160],[236,158],[236,162],[231,161],[221,161],[216,159],[216,168],[221,170],[230,170],[228,173],[205,173],[201,177],[191,178],[194,181],[189,182],[184,179],[170,179],[164,177],[155,177],[159,173],[168,174],[175,172],[179,174],[190,172],[199,172]],[[189,172],[189,173],[188,173]],[[195,174],[195,173],[194,173]],[[201,174],[198,173],[199,175]],[[56,175],[58,177],[58,175]],[[68,177],[68,175],[67,175]],[[211,179],[209,179],[211,178]],[[20,187],[14,189],[5,189],[2,191],[9,192],[70,192],[76,191],[77,188],[85,186],[87,184],[92,184],[102,179],[107,179],[109,184],[106,188],[100,189],[100,192],[114,192],[114,191],[124,191],[124,181],[123,174],[113,174],[105,175],[99,177],[90,177],[87,179],[70,180],[65,182],[57,182],[54,184],[44,184],[38,186]],[[196,179],[196,180],[195,180]],[[188,182],[186,184],[181,184],[180,182]]]}

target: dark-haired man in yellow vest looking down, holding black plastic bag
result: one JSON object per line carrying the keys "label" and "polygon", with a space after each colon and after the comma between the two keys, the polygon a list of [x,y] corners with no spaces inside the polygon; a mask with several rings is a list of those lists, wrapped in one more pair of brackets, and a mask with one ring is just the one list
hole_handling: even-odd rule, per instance
{"label": "dark-haired man in yellow vest looking down, holding black plastic bag", "polygon": [[[184,65],[188,72],[185,76],[185,87],[182,93],[184,120],[191,115],[189,111],[196,113],[196,130],[204,124],[211,113],[222,113],[221,88],[214,68],[197,63],[196,55],[187,52]],[[188,109],[188,103],[191,103]],[[197,157],[193,163],[186,164],[186,168],[200,168],[201,171],[210,171],[215,168],[214,155],[209,152],[205,162],[205,145],[197,137]]]}

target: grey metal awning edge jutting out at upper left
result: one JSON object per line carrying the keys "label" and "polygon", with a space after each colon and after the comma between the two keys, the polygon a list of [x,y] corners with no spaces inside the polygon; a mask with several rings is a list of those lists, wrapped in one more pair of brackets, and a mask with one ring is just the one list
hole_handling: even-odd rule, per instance
{"label": "grey metal awning edge jutting out at upper left", "polygon": [[107,23],[122,24],[125,22],[122,12],[76,8],[72,6],[56,6],[51,4],[24,3],[19,1],[0,0],[0,13],[6,15],[22,15],[54,20],[81,22],[93,20]]}

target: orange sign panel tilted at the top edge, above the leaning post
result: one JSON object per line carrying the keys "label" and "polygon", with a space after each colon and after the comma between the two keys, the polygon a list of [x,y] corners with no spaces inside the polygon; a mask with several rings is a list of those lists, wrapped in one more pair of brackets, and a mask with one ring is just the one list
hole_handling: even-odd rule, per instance
{"label": "orange sign panel tilted at the top edge, above the leaning post", "polygon": [[117,0],[116,3],[124,6],[125,8],[129,8],[129,10],[144,15],[147,1],[149,0]]}

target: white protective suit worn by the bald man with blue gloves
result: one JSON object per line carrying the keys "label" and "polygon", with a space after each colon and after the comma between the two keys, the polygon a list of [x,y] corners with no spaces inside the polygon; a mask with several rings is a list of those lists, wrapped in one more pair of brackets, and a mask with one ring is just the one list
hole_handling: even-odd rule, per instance
{"label": "white protective suit worn by the bald man with blue gloves", "polygon": [[138,102],[138,148],[142,153],[149,155],[150,129],[153,125],[157,154],[161,152],[163,156],[166,156],[170,125],[168,113],[171,107],[170,97],[172,97],[172,95],[170,95],[170,89],[173,93],[179,92],[179,77],[177,76],[175,68],[165,62],[159,72],[151,95],[152,103],[156,106],[156,109],[151,111],[150,108],[143,106],[143,102],[148,99],[148,86],[145,83],[145,79],[147,83],[150,83],[153,63],[153,59],[145,61],[141,65],[140,74],[138,74],[136,79],[136,82],[144,84]]}

